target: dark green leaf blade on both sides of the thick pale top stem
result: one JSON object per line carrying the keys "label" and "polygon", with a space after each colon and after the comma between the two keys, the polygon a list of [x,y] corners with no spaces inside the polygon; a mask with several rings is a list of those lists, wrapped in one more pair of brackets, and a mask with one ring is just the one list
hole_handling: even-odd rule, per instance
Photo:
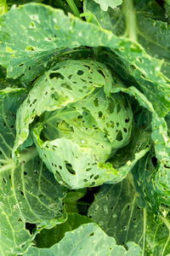
{"label": "dark green leaf blade on both sides of the thick pale top stem", "polygon": [[[135,9],[136,24],[131,27],[136,33],[139,44],[146,52],[155,58],[162,60],[161,72],[169,78],[169,38],[170,29],[166,20],[163,20],[164,13],[161,7],[158,8],[156,1],[133,1]],[[125,20],[125,15],[132,15],[131,10],[126,6],[123,9],[109,9],[104,12],[99,9],[99,5],[93,1],[86,0],[84,4],[85,12],[95,15],[95,24],[110,30],[118,36],[126,36],[126,28],[129,20]],[[157,15],[160,15],[157,17]],[[162,19],[162,20],[160,20]],[[94,20],[92,20],[94,21]],[[164,21],[164,22],[163,22]]]}

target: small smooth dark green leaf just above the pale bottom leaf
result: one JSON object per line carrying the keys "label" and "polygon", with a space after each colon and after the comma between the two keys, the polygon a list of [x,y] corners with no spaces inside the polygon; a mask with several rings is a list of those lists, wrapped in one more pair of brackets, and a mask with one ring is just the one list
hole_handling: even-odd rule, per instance
{"label": "small smooth dark green leaf just above the pale bottom leaf", "polygon": [[92,220],[86,216],[77,213],[68,213],[68,218],[64,224],[56,225],[50,230],[44,229],[37,234],[35,238],[36,246],[41,248],[52,247],[65,236],[65,232],[76,230],[80,225],[90,222],[92,222]]}

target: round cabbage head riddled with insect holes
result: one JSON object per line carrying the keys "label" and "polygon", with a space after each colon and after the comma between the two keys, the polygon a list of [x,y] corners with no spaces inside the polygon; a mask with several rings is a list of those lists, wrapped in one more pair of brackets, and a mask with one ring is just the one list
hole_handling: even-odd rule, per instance
{"label": "round cabbage head riddled with insect holes", "polygon": [[122,180],[127,166],[118,170],[108,160],[129,143],[133,111],[127,96],[113,93],[115,86],[100,62],[60,61],[20,106],[14,151],[34,142],[48,170],[69,188]]}

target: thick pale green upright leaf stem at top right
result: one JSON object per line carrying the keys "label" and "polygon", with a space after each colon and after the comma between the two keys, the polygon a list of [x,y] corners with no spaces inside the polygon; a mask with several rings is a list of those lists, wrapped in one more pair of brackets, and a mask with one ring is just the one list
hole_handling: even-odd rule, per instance
{"label": "thick pale green upright leaf stem at top right", "polygon": [[125,15],[126,22],[126,36],[133,42],[137,42],[136,35],[136,13],[133,8],[133,0],[124,0],[122,3],[122,10]]}

